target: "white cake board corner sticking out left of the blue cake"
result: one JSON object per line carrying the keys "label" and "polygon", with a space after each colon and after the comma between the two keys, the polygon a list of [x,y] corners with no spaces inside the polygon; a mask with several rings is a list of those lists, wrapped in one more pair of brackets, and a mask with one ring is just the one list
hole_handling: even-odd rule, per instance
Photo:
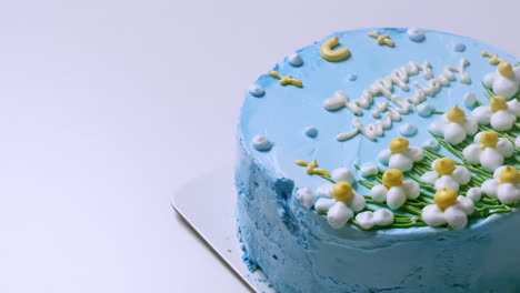
{"label": "white cake board corner sticking out left of the blue cake", "polygon": [[274,293],[261,270],[249,272],[237,239],[237,192],[233,168],[214,170],[188,182],[172,199],[172,206],[251,291]]}

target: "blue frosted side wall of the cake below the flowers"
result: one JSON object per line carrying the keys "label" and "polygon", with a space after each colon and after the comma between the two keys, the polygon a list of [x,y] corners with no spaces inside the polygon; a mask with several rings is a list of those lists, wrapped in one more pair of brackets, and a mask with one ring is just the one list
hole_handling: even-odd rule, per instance
{"label": "blue frosted side wall of the cake below the flowers", "polygon": [[[416,228],[408,235],[329,226],[242,149],[238,223],[248,259],[278,292],[518,292],[520,213],[461,231]],[[402,232],[402,231],[401,231]]]}

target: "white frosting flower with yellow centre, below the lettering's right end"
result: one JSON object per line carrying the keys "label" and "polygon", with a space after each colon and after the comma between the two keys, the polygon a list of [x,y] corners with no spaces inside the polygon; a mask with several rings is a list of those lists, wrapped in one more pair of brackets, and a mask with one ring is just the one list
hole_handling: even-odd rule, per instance
{"label": "white frosting flower with yellow centre, below the lettering's right end", "polygon": [[477,133],[479,125],[476,120],[467,118],[458,105],[448,111],[439,121],[428,128],[433,134],[444,138],[450,144],[459,144],[467,135]]}

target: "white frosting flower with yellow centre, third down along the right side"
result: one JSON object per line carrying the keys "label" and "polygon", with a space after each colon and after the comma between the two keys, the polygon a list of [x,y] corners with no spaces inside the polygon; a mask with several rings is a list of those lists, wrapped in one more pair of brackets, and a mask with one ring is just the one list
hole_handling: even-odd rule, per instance
{"label": "white frosting flower with yellow centre, third down along the right side", "polygon": [[499,138],[494,131],[483,131],[474,135],[473,144],[466,146],[462,155],[470,164],[480,164],[486,171],[493,172],[503,164],[504,158],[514,153],[513,144]]}

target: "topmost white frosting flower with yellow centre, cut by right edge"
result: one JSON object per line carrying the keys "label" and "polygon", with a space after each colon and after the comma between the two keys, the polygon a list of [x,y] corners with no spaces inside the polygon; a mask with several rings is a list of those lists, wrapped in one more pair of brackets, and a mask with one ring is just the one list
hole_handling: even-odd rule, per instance
{"label": "topmost white frosting flower with yellow centre, cut by right edge", "polygon": [[509,100],[520,88],[520,67],[512,67],[511,63],[502,61],[497,72],[488,73],[482,82],[488,89],[492,89],[494,94]]}

